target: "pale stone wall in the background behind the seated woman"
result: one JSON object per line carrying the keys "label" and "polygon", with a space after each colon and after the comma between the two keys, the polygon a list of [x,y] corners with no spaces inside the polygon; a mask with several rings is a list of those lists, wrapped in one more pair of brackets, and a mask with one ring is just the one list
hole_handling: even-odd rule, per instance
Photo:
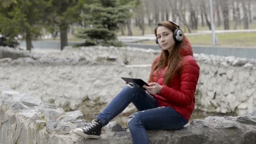
{"label": "pale stone wall in the background behind the seated woman", "polygon": [[[3,51],[8,53],[9,49],[0,48],[0,58],[6,57]],[[95,115],[125,85],[120,77],[147,81],[152,61],[159,53],[129,47],[82,47],[67,48],[61,53],[29,53],[27,58],[0,59],[0,80],[11,89],[38,96],[56,107]],[[204,54],[194,57],[200,65],[195,109],[245,115],[256,108],[255,60]],[[124,112],[134,111],[131,105]]]}

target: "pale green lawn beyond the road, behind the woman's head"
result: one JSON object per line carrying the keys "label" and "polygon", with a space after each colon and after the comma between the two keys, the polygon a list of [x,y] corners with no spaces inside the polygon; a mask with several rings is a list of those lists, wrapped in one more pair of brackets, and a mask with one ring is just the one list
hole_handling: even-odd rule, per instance
{"label": "pale green lawn beyond the road, behind the woman's head", "polygon": [[[216,34],[218,42],[216,46],[256,47],[256,32],[243,33],[219,33]],[[189,35],[191,45],[212,45],[212,35]],[[155,44],[153,40],[142,41],[143,44]]]}

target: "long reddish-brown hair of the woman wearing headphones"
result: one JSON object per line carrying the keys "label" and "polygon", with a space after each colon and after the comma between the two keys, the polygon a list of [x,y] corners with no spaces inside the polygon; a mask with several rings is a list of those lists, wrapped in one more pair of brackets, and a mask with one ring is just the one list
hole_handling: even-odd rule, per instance
{"label": "long reddish-brown hair of the woman wearing headphones", "polygon": [[[157,24],[157,27],[155,28],[155,36],[157,36],[158,27],[166,27],[170,29],[172,32],[174,32],[174,30],[178,28],[176,25],[173,25],[169,21],[161,21]],[[176,72],[179,72],[179,64],[182,59],[182,54],[180,51],[181,51],[182,45],[184,45],[185,39],[186,37],[184,36],[181,42],[176,42],[170,53],[167,50],[162,49],[160,58],[157,61],[154,61],[154,63],[152,64],[149,82],[153,82],[153,72],[156,69],[158,69],[157,70],[157,74],[158,74],[160,69],[164,69],[165,67],[168,67],[164,75],[164,85],[168,85],[168,83],[170,83],[174,74]]]}

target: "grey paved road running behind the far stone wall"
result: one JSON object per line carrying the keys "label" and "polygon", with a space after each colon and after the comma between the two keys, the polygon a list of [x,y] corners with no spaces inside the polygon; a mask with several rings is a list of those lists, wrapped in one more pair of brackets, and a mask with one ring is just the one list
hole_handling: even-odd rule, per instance
{"label": "grey paved road running behind the far stone wall", "polygon": [[[60,49],[60,42],[57,40],[39,40],[33,41],[33,46],[35,49]],[[80,42],[69,42],[69,45],[75,45]],[[144,45],[137,43],[125,43],[125,45],[136,48],[145,48],[145,49],[160,49],[158,45]],[[26,43],[24,41],[21,42],[21,47],[26,47]],[[192,45],[194,53],[205,53],[219,56],[235,56],[240,58],[247,59],[256,59],[256,48],[233,48],[233,47],[207,47],[207,46],[195,46]]]}

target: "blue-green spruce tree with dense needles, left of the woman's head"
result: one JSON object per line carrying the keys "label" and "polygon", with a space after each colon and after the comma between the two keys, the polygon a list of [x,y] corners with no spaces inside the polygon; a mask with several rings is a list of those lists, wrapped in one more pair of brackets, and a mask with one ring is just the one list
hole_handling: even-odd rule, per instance
{"label": "blue-green spruce tree with dense needles, left of the woman's head", "polygon": [[121,46],[116,32],[120,24],[130,19],[135,0],[93,0],[83,7],[84,27],[76,37],[85,39],[83,45]]}

